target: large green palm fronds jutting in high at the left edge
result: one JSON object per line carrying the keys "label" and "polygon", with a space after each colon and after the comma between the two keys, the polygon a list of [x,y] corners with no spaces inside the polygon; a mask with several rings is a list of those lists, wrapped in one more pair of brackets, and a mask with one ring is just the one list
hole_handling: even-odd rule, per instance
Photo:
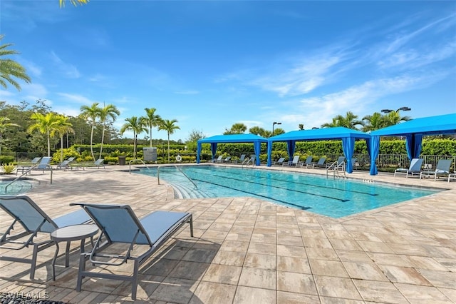
{"label": "large green palm fronds jutting in high at the left edge", "polygon": [[[4,35],[0,35],[0,41],[3,39]],[[2,44],[0,45],[0,56],[16,55],[19,54],[18,51],[7,50],[6,48],[12,46],[12,44]],[[0,57],[1,58],[1,57]],[[6,88],[6,83],[9,82],[18,91],[21,91],[21,86],[11,77],[16,77],[22,79],[26,83],[31,83],[30,77],[26,74],[26,69],[21,64],[18,64],[16,61],[11,59],[0,59],[0,86]]]}

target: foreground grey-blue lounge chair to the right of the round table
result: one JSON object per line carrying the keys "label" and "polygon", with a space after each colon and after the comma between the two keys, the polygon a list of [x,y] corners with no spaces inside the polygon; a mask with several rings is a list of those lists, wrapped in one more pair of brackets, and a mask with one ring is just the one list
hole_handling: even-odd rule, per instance
{"label": "foreground grey-blue lounge chair to the right of the round table", "polygon": [[[142,263],[145,263],[185,223],[190,223],[190,235],[193,236],[192,213],[155,211],[138,219],[128,205],[87,203],[71,205],[84,208],[101,230],[92,252],[81,254],[76,284],[78,291],[81,291],[82,280],[85,277],[125,280],[132,283],[131,297],[135,300],[138,288],[138,272]],[[126,246],[125,250],[116,253],[115,249],[118,249],[121,244]],[[110,253],[103,253],[110,245],[114,245],[114,248],[110,248]],[[133,246],[135,246],[135,250],[140,252],[133,254]],[[96,269],[93,272],[87,271],[86,260],[90,260],[90,263],[95,266],[120,266],[133,260],[131,264],[133,265],[133,275],[115,274],[112,268],[109,272],[98,272]]]}

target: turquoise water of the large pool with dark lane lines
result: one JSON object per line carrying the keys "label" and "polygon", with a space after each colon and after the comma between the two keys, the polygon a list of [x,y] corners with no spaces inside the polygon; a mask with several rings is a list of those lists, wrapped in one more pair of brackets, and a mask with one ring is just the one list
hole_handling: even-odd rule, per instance
{"label": "turquoise water of the large pool with dark lane lines", "polygon": [[[429,196],[438,191],[379,183],[326,178],[254,168],[180,166],[197,188],[175,167],[161,167],[160,180],[193,197],[252,196],[323,216],[341,218],[351,214]],[[139,173],[157,176],[157,168]]]}

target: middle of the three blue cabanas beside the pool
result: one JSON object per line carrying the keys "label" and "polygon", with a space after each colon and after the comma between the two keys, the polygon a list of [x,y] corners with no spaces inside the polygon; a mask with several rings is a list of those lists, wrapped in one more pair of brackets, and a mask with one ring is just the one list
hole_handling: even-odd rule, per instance
{"label": "middle of the three blue cabanas beside the pool", "polygon": [[347,172],[353,172],[353,151],[355,150],[355,139],[362,138],[366,140],[369,146],[371,136],[368,133],[353,130],[351,128],[317,128],[312,130],[298,130],[280,134],[268,138],[268,166],[271,166],[272,143],[274,141],[286,142],[289,158],[293,158],[296,141],[321,141],[325,139],[341,139],[343,154],[347,159]]}

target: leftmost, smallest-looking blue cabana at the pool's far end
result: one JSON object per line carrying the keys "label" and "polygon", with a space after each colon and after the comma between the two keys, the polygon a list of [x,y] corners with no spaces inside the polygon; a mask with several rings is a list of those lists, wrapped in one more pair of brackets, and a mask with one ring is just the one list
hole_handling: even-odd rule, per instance
{"label": "leftmost, smallest-looking blue cabana at the pool's far end", "polygon": [[267,143],[268,140],[264,137],[255,134],[229,134],[229,135],[216,135],[208,138],[200,139],[197,143],[197,163],[199,163],[199,156],[201,154],[201,144],[210,143],[212,158],[215,158],[217,153],[217,143],[253,143],[254,151],[257,161],[257,166],[260,165],[259,153],[261,151],[261,143]]}

